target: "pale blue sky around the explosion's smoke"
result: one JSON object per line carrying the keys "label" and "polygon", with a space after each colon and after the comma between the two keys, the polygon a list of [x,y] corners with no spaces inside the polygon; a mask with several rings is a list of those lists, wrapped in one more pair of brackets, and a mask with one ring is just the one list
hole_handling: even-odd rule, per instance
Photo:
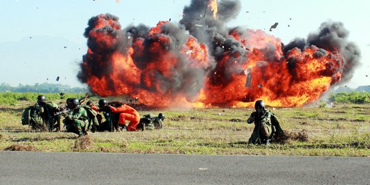
{"label": "pale blue sky around the explosion's smoke", "polygon": [[[282,3],[284,2],[284,3]],[[180,21],[190,0],[7,0],[0,6],[0,83],[12,86],[42,82],[83,86],[78,63],[86,53],[84,29],[97,14],[119,16],[122,27],[158,21]],[[324,21],[341,21],[349,40],[361,50],[361,63],[350,87],[370,85],[370,3],[360,1],[242,1],[242,10],[229,26],[265,29],[288,43],[316,32]],[[273,23],[279,23],[269,32]],[[367,75],[367,77],[366,77]],[[56,77],[60,81],[56,82]]]}

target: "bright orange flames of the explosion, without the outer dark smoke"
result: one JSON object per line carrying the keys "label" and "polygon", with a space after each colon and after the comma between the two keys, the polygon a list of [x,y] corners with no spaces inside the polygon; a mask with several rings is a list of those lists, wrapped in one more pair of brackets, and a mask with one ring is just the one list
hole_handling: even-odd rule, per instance
{"label": "bright orange flames of the explosion, without the outer dark smoke", "polygon": [[[210,5],[217,13],[217,1]],[[96,28],[110,25],[113,30],[108,33],[120,29],[112,20],[96,23]],[[330,85],[341,81],[344,59],[336,51],[312,46],[284,53],[279,38],[247,29],[230,32],[241,51],[226,48],[212,58],[208,46],[195,37],[169,34],[171,24],[160,21],[147,38],[133,38],[124,52],[102,53],[119,46],[116,38],[122,35],[92,29],[89,36],[99,49],[89,48],[82,63],[91,90],[102,97],[138,97],[140,103],[156,108],[245,107],[254,106],[257,99],[267,106],[293,107],[319,99]],[[214,47],[225,47],[221,45]],[[103,70],[106,73],[100,73]]]}

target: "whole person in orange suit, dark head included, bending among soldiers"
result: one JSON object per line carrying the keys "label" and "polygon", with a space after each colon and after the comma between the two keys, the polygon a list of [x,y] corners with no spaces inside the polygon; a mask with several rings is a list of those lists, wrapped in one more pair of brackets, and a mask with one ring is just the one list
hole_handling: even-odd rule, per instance
{"label": "whole person in orange suit, dark head included, bending among soldiers", "polygon": [[109,106],[108,102],[105,99],[99,100],[99,108],[105,112],[113,112],[119,113],[119,125],[121,127],[126,127],[126,120],[130,121],[129,125],[127,125],[127,131],[138,131],[136,125],[138,125],[140,121],[140,115],[138,112],[126,104],[122,104],[121,106]]}

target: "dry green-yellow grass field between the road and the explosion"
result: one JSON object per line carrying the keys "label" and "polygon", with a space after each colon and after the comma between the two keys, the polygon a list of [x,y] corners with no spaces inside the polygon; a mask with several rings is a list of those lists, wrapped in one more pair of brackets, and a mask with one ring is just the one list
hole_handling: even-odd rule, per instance
{"label": "dry green-yellow grass field between the road and the explosion", "polygon": [[[333,108],[269,108],[288,133],[284,143],[248,145],[251,108],[139,110],[166,115],[163,130],[102,132],[76,138],[66,132],[32,132],[21,125],[34,101],[0,106],[0,149],[217,155],[370,156],[370,104]],[[55,103],[62,103],[56,99]]]}

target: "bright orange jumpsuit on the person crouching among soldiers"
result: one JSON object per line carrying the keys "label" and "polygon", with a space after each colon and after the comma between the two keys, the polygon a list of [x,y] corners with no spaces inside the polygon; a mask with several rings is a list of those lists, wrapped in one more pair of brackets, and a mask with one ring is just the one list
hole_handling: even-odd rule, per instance
{"label": "bright orange jumpsuit on the person crouching among soldiers", "polygon": [[112,110],[112,112],[121,113],[119,114],[119,124],[125,125],[126,120],[130,121],[130,124],[127,125],[127,131],[137,131],[136,125],[138,125],[140,121],[140,115],[134,108],[123,104],[118,108],[111,106],[110,110]]}

